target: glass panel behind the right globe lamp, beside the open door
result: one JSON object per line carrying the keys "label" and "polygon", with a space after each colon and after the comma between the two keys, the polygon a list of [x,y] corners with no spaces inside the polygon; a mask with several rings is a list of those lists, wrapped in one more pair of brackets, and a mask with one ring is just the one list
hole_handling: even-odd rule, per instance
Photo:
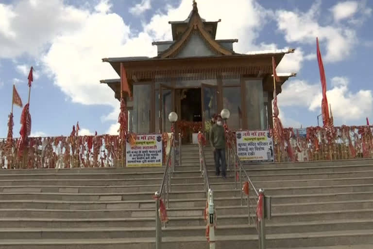
{"label": "glass panel behind the right globe lamp, beside the open door", "polygon": [[229,128],[240,129],[242,127],[241,87],[223,88],[223,108],[231,113],[227,121]]}

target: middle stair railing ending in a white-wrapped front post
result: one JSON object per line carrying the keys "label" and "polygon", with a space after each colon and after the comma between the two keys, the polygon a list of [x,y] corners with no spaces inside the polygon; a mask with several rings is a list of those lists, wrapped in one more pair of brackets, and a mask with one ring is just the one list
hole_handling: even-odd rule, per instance
{"label": "middle stair railing ending in a white-wrapped front post", "polygon": [[200,159],[200,171],[203,177],[204,193],[206,197],[206,207],[203,212],[204,220],[206,221],[206,236],[208,234],[209,248],[215,249],[215,224],[216,224],[216,211],[214,207],[213,190],[208,179],[208,171],[206,167],[206,160],[204,158],[203,146],[205,145],[205,138],[203,133],[198,132],[198,147]]}

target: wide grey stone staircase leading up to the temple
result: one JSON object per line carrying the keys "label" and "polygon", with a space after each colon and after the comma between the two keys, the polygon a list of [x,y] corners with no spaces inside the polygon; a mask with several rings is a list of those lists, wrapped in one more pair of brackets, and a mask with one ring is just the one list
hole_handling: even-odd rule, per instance
{"label": "wide grey stone staircase leading up to the temple", "polygon": [[[198,147],[182,150],[162,249],[208,248]],[[205,157],[217,207],[217,248],[257,248],[255,226],[240,205],[241,186],[235,190],[233,172],[225,180],[215,177],[209,147]],[[373,160],[246,169],[256,187],[272,196],[267,248],[373,248]],[[152,196],[162,177],[162,168],[1,170],[0,249],[153,249]]]}

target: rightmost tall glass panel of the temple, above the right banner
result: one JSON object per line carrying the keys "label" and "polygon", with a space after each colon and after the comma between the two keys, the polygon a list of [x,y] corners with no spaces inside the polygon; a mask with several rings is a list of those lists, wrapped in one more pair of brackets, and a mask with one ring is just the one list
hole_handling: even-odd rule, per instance
{"label": "rightmost tall glass panel of the temple, above the right banner", "polygon": [[263,130],[267,128],[266,108],[263,98],[263,84],[261,79],[245,80],[247,125],[249,130]]}

